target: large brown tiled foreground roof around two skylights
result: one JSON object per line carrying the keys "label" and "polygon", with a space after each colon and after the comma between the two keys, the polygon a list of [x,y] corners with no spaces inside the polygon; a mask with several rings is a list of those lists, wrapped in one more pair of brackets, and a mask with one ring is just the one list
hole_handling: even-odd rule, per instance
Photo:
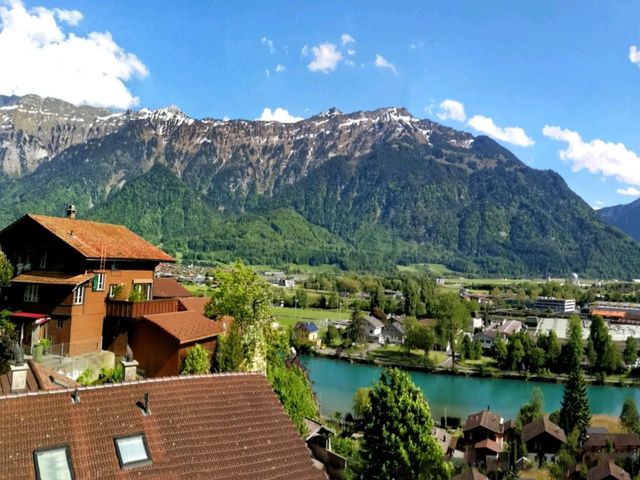
{"label": "large brown tiled foreground roof around two skylights", "polygon": [[[34,479],[34,450],[67,445],[76,479],[326,479],[262,375],[85,387],[77,404],[72,393],[0,397],[0,478]],[[139,433],[151,464],[123,470],[114,438]]]}

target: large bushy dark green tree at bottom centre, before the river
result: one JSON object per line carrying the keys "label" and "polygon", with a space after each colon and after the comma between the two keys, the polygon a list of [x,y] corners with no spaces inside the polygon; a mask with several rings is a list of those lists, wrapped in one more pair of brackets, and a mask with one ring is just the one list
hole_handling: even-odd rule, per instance
{"label": "large bushy dark green tree at bottom centre, before the river", "polygon": [[385,369],[370,399],[362,445],[363,478],[450,478],[450,466],[431,434],[429,405],[407,373]]}

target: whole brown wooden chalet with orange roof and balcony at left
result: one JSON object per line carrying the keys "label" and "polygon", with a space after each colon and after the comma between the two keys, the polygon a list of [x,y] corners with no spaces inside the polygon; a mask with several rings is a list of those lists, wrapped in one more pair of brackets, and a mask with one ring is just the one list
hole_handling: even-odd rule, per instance
{"label": "whole brown wooden chalet with orange roof and balcony at left", "polygon": [[0,246],[14,266],[2,303],[16,312],[11,320],[28,353],[41,338],[62,355],[100,351],[113,302],[153,302],[156,266],[174,261],[123,226],[75,216],[71,205],[66,218],[25,215],[0,232]]}

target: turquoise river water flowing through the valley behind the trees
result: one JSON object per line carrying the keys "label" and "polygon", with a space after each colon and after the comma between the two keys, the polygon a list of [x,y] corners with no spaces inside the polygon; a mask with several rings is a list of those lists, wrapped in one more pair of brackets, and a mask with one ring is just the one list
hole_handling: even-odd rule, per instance
{"label": "turquoise river water flowing through the valley behind the trees", "polygon": [[[353,394],[360,387],[371,386],[381,368],[374,365],[348,363],[330,358],[303,356],[324,415],[336,411],[351,411]],[[424,392],[432,415],[439,419],[447,409],[448,416],[466,417],[487,408],[505,418],[514,418],[520,406],[531,398],[531,389],[539,387],[544,393],[545,410],[560,408],[563,385],[560,383],[527,382],[500,378],[476,378],[409,372]],[[618,416],[625,397],[640,402],[640,389],[626,387],[589,386],[592,413]]]}

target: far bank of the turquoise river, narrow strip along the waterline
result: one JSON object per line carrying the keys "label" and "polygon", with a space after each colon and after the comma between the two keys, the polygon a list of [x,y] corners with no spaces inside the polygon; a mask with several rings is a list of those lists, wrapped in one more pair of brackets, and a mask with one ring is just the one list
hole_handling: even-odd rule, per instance
{"label": "far bank of the turquoise river, narrow strip along the waterline", "polygon": [[[377,350],[379,352],[379,350]],[[522,380],[532,382],[544,382],[544,383],[563,383],[567,375],[561,373],[553,373],[549,375],[532,374],[526,372],[514,372],[506,370],[498,370],[496,368],[486,368],[483,365],[469,366],[456,364],[455,367],[451,367],[447,362],[443,362],[440,365],[428,365],[428,360],[425,359],[423,365],[419,365],[415,360],[403,362],[401,357],[396,356],[397,359],[380,358],[380,356],[373,357],[371,352],[365,350],[364,352],[348,352],[338,351],[334,348],[323,348],[318,350],[312,350],[310,355],[318,357],[332,358],[336,360],[342,360],[350,363],[361,363],[367,365],[375,365],[379,367],[396,367],[403,370],[433,373],[438,375],[454,375],[465,377],[477,377],[477,378],[502,378],[506,380]],[[408,357],[409,358],[409,357]],[[451,363],[450,361],[448,362]],[[606,377],[604,383],[593,375],[585,375],[587,383],[592,385],[604,385],[612,387],[639,387],[640,379],[635,378],[622,378],[620,376]]]}

